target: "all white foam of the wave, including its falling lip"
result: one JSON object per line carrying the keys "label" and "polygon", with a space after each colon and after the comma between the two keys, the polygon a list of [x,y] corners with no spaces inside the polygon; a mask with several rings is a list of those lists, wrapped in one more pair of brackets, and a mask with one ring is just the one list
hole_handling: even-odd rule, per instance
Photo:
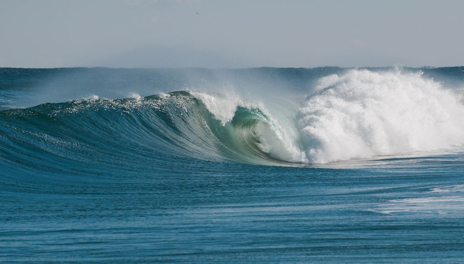
{"label": "all white foam of the wave, including its falling lip", "polygon": [[[255,117],[260,122],[251,129],[259,149],[283,161],[326,163],[448,149],[464,142],[462,90],[445,89],[422,78],[422,72],[354,69],[318,82],[300,105],[260,102],[275,118]],[[192,94],[223,125],[238,114],[237,107],[260,109],[234,95]]]}

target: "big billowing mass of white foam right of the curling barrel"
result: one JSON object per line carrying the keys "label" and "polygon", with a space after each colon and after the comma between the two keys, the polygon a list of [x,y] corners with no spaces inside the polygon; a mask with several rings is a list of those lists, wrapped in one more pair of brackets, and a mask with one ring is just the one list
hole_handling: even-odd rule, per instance
{"label": "big billowing mass of white foam right of the curling barrel", "polygon": [[449,148],[464,142],[464,107],[422,73],[351,70],[322,78],[298,113],[309,162]]}

